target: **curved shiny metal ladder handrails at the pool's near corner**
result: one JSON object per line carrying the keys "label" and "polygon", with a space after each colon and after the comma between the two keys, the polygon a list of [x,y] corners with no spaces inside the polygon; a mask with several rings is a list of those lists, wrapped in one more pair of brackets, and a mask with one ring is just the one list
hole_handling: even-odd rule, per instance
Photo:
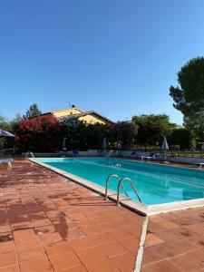
{"label": "curved shiny metal ladder handrails at the pool's near corner", "polygon": [[121,188],[123,189],[123,191],[124,191],[126,197],[129,198],[129,195],[128,195],[126,189],[124,188],[124,186],[123,186],[123,184],[122,184],[122,182],[123,182],[124,180],[127,180],[127,181],[130,182],[130,184],[131,184],[131,189],[133,189],[133,191],[135,192],[137,198],[138,198],[139,201],[141,202],[141,198],[140,198],[140,196],[139,196],[139,194],[138,194],[138,192],[137,192],[137,189],[134,187],[134,184],[133,184],[133,182],[131,181],[131,179],[130,179],[130,178],[122,178],[122,179],[120,179],[119,176],[116,175],[116,174],[110,175],[110,176],[107,178],[106,182],[105,182],[105,199],[106,199],[106,200],[108,200],[108,187],[109,187],[109,181],[112,180],[112,178],[116,178],[116,179],[118,180],[117,206],[119,206],[119,203],[120,203],[120,189],[121,189]]}

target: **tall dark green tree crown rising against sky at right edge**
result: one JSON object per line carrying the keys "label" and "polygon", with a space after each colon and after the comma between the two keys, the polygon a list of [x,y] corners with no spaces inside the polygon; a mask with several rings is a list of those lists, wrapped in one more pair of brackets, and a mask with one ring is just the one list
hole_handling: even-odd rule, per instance
{"label": "tall dark green tree crown rising against sky at right edge", "polygon": [[204,57],[191,59],[178,73],[179,85],[170,86],[173,106],[183,113],[189,129],[198,128],[204,121]]}

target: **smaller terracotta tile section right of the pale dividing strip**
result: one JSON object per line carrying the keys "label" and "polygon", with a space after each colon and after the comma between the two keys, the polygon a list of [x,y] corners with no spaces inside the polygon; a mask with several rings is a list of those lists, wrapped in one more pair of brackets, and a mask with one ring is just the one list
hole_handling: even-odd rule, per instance
{"label": "smaller terracotta tile section right of the pale dividing strip", "polygon": [[141,271],[204,271],[204,208],[152,216]]}

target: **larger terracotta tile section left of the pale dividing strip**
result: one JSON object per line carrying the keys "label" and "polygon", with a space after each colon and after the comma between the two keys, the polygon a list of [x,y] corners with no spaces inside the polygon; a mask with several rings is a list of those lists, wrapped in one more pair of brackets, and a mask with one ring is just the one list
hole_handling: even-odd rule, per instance
{"label": "larger terracotta tile section left of the pale dividing strip", "polygon": [[34,163],[0,170],[0,272],[132,271],[142,222]]}

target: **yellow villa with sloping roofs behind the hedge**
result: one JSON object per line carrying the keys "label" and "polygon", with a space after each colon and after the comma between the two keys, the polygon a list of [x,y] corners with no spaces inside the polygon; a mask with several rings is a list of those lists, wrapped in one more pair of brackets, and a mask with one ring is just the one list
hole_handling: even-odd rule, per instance
{"label": "yellow villa with sloping roofs behind the hedge", "polygon": [[89,111],[89,112],[83,112],[82,110],[79,110],[74,105],[71,108],[66,108],[59,111],[53,111],[53,112],[46,112],[42,115],[50,115],[53,114],[53,116],[58,119],[69,119],[69,118],[76,118],[79,121],[84,121],[86,123],[101,123],[101,124],[112,124],[113,121],[109,120],[108,118],[102,116],[101,114]]}

